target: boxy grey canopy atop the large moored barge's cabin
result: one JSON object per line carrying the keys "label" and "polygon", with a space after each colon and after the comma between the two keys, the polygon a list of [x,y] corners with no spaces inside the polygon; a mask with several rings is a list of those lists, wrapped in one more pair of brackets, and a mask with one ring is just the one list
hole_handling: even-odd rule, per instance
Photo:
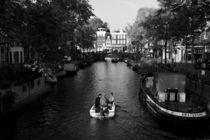
{"label": "boxy grey canopy atop the large moored barge's cabin", "polygon": [[178,92],[185,91],[186,76],[179,73],[157,73],[156,89],[159,92],[165,92],[168,88],[178,89]]}

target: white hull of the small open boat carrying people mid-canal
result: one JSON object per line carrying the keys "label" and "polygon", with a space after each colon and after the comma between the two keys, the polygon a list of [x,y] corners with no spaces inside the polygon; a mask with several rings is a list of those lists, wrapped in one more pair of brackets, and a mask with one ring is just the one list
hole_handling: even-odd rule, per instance
{"label": "white hull of the small open boat carrying people mid-canal", "polygon": [[93,118],[103,119],[103,118],[113,118],[115,116],[115,103],[112,104],[111,109],[108,109],[108,113],[102,115],[101,111],[95,111],[95,105],[93,105],[90,109],[90,116]]}

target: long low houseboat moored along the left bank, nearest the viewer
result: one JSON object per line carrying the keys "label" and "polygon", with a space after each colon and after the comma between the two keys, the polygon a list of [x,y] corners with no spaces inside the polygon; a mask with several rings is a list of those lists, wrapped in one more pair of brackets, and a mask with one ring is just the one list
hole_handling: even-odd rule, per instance
{"label": "long low houseboat moored along the left bank, nearest the viewer", "polygon": [[45,77],[37,77],[28,82],[12,85],[6,89],[0,89],[0,116],[12,113],[27,104],[41,98],[50,91]]}

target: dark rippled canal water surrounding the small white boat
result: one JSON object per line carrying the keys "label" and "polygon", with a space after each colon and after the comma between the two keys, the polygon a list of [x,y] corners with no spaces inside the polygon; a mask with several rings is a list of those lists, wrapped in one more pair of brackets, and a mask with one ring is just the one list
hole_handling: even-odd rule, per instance
{"label": "dark rippled canal water surrounding the small white boat", "polygon": [[[97,94],[114,92],[116,116],[90,118]],[[210,139],[208,127],[191,131],[155,120],[138,99],[139,76],[125,63],[98,62],[59,79],[44,99],[0,122],[0,140]]]}

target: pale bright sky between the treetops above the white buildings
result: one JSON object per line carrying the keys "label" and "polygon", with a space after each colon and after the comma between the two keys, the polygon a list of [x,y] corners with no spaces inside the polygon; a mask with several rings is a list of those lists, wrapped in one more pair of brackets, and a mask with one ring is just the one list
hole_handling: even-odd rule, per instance
{"label": "pale bright sky between the treetops above the white buildings", "polygon": [[139,8],[158,7],[156,0],[89,0],[93,13],[109,24],[111,30],[132,24]]}

